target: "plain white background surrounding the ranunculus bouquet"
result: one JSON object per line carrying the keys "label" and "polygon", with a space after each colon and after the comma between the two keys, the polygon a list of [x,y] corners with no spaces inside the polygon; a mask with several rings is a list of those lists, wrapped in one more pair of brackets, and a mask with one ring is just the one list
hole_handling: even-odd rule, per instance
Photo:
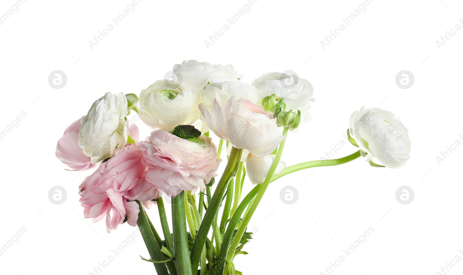
{"label": "plain white background surrounding the ranunculus bouquet", "polygon": [[[400,169],[357,159],[272,183],[250,223],[255,235],[244,249],[250,254],[235,259],[236,269],[318,275],[369,226],[375,231],[367,242],[332,274],[436,274],[456,255],[463,257],[463,147],[440,165],[436,160],[463,141],[463,31],[441,49],[436,44],[456,24],[463,27],[461,1],[375,0],[346,25],[342,19],[361,0],[259,0],[229,24],[226,19],[246,2],[143,0],[94,49],[88,41],[131,1],[28,0],[0,25],[0,130],[27,113],[0,141],[0,246],[27,228],[0,257],[2,274],[89,274],[135,230],[124,224],[107,234],[104,222],[82,219],[77,186],[91,171],[64,171],[55,158],[56,141],[105,92],[138,94],[189,59],[231,63],[248,83],[285,70],[312,82],[313,121],[288,137],[288,165],[320,159],[344,140],[350,114],[363,105],[394,112],[412,140],[411,159]],[[0,15],[14,3],[2,0]],[[224,24],[230,29],[207,49],[205,40]],[[345,30],[323,49],[320,40],[339,24]],[[62,89],[48,83],[55,70],[67,75]],[[409,89],[395,82],[401,70],[414,75]],[[144,139],[149,131],[142,130]],[[356,150],[346,144],[335,157]],[[48,198],[56,185],[67,190],[61,205]],[[395,199],[403,185],[415,193],[408,205]],[[250,182],[245,186],[249,190]],[[285,186],[297,189],[294,204],[280,199]],[[156,209],[149,214],[161,232]],[[139,255],[148,257],[141,237],[100,274],[153,274]],[[450,271],[462,272],[463,262]]]}

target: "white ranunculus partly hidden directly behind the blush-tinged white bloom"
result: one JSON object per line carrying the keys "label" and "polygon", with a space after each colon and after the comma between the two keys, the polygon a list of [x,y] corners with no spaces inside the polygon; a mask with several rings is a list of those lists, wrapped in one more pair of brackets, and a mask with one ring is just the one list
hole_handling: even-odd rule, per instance
{"label": "white ranunculus partly hidden directly behind the blush-tinged white bloom", "polygon": [[257,90],[256,87],[245,84],[241,81],[217,82],[207,85],[206,88],[201,91],[202,102],[206,104],[207,107],[212,105],[216,92],[219,94],[222,102],[226,102],[233,96],[238,99],[247,99],[257,106],[262,106],[263,96],[259,90]]}

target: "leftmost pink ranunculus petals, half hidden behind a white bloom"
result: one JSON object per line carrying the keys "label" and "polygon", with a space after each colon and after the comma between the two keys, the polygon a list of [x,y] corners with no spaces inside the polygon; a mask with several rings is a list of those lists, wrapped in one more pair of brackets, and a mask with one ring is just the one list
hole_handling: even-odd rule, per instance
{"label": "leftmost pink ranunculus petals, half hidden behind a white bloom", "polygon": [[[83,116],[82,116],[83,117]],[[61,160],[70,169],[68,171],[83,171],[91,169],[95,164],[91,163],[90,157],[86,156],[82,148],[79,147],[79,129],[81,128],[81,119],[73,122],[66,130],[63,136],[56,144],[56,158]]]}

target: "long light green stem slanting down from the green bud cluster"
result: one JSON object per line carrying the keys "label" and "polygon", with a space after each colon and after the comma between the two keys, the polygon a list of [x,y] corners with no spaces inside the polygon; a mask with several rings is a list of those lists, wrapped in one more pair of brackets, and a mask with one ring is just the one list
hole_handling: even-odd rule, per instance
{"label": "long light green stem slanting down from the green bud cluster", "polygon": [[[283,129],[283,135],[286,135],[288,133],[288,128],[285,127]],[[267,177],[265,178],[265,181],[262,184],[262,187],[259,189],[259,193],[257,193],[256,199],[252,203],[251,207],[249,208],[248,214],[244,216],[243,222],[238,228],[238,232],[236,233],[235,238],[233,238],[232,244],[230,245],[230,249],[228,250],[227,254],[227,261],[232,261],[233,256],[235,254],[235,250],[239,245],[239,242],[241,240],[241,237],[243,237],[243,234],[246,230],[246,227],[248,226],[252,215],[257,209],[257,205],[259,205],[259,202],[261,201],[263,194],[265,193],[265,190],[267,190],[267,187],[269,186],[270,180],[273,177],[273,174],[275,173],[276,166],[278,165],[278,162],[280,161],[280,158],[282,156],[283,148],[285,146],[285,141],[284,139],[280,146],[278,147],[278,151],[276,152],[275,160],[273,161],[272,165],[270,166],[269,173]]]}

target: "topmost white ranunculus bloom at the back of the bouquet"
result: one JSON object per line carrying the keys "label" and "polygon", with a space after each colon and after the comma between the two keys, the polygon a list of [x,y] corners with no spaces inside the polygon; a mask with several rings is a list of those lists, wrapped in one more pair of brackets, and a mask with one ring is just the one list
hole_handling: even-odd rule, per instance
{"label": "topmost white ranunculus bloom at the back of the bouquet", "polygon": [[174,65],[173,75],[179,79],[178,83],[188,83],[197,89],[203,89],[207,83],[237,81],[243,77],[232,65],[212,65],[208,62],[196,60],[183,61]]}

